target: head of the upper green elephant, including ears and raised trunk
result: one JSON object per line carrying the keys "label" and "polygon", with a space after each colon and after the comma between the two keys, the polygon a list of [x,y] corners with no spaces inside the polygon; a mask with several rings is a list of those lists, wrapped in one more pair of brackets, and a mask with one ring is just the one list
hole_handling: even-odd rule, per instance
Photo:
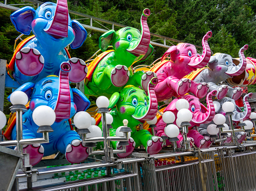
{"label": "head of the upper green elephant, including ears and raised trunk", "polygon": [[149,15],[149,9],[143,10],[140,21],[141,33],[138,29],[125,27],[116,32],[115,30],[109,30],[101,35],[99,38],[100,49],[106,51],[110,43],[112,43],[117,60],[124,61],[123,63],[132,64],[146,60],[154,50],[153,46],[149,44],[150,32],[147,24]]}

